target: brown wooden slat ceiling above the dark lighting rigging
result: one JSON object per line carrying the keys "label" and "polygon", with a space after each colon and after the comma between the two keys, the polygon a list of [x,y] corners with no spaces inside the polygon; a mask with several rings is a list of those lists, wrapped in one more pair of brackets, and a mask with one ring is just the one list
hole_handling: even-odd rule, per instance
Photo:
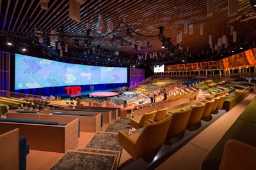
{"label": "brown wooden slat ceiling above the dark lighting rigging", "polygon": [[[228,17],[228,1],[213,0],[212,17],[207,17],[207,1],[202,0],[90,0],[81,4],[80,21],[76,22],[69,18],[68,0],[49,0],[48,10],[43,10],[38,0],[5,0],[0,1],[0,29],[2,40],[9,34],[14,34],[13,32],[19,32],[17,35],[21,32],[29,39],[35,28],[43,31],[44,36],[51,34],[51,30],[62,29],[63,36],[59,37],[59,41],[65,41],[69,51],[72,51],[75,48],[75,39],[78,39],[80,44],[76,48],[83,49],[81,44],[88,40],[86,24],[90,24],[90,36],[93,39],[89,48],[100,46],[109,50],[143,55],[145,52],[161,51],[162,42],[157,35],[159,27],[163,26],[164,36],[171,38],[174,45],[182,46],[188,59],[196,59],[202,53],[212,53],[209,45],[210,34],[213,47],[223,35],[227,36],[229,46],[256,39],[255,11],[250,1],[238,0],[237,8],[237,14]],[[101,34],[96,32],[100,14],[103,18]],[[115,29],[114,39],[110,38],[107,32],[109,20],[113,22]],[[184,34],[185,22],[193,24],[193,34]],[[203,24],[202,35],[200,24]],[[237,31],[236,43],[233,43],[233,37],[230,35],[230,25],[234,25],[234,31]],[[131,34],[127,34],[127,27]],[[182,41],[177,43],[177,34],[180,31]],[[16,41],[23,41],[24,37],[19,36]],[[132,39],[136,45],[141,46],[141,50],[131,46]]]}

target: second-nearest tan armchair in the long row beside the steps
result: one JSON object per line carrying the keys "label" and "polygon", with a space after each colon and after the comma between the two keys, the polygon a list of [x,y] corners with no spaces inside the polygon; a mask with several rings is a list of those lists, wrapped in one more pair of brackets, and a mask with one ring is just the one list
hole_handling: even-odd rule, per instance
{"label": "second-nearest tan armchair in the long row beside the steps", "polygon": [[167,140],[186,130],[190,113],[191,108],[180,110],[171,114],[170,117],[172,117],[172,119],[166,135]]}

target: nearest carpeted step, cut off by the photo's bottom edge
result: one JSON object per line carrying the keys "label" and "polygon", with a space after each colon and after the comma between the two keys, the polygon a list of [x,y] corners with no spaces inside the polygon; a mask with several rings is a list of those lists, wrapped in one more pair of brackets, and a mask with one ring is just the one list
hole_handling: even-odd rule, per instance
{"label": "nearest carpeted step, cut off by the photo's bottom edge", "polygon": [[106,170],[113,169],[116,162],[116,155],[104,155],[86,152],[67,152],[53,166],[51,170],[80,170],[95,169]]}

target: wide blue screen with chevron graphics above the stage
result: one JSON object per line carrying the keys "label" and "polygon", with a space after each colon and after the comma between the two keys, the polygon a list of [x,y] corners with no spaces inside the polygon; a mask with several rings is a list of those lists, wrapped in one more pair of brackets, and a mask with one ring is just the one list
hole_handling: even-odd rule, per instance
{"label": "wide blue screen with chevron graphics above the stage", "polygon": [[15,90],[109,83],[127,83],[127,68],[70,64],[15,54]]}

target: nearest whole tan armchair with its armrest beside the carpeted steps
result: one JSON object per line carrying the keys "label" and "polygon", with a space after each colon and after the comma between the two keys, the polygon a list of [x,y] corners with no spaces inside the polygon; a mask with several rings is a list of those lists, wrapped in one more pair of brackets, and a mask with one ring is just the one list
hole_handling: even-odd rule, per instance
{"label": "nearest whole tan armchair with its armrest beside the carpeted steps", "polygon": [[143,127],[143,131],[131,135],[119,131],[119,143],[134,160],[139,159],[164,143],[170,120],[171,117],[167,117],[159,122],[148,122]]}

